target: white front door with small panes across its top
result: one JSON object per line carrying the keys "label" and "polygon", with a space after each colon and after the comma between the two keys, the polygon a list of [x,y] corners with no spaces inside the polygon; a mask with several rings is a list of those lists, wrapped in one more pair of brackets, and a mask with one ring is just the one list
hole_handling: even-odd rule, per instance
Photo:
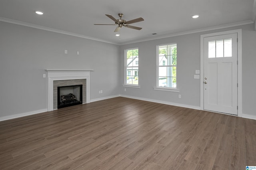
{"label": "white front door with small panes across its top", "polygon": [[237,33],[204,38],[204,110],[238,114]]}

